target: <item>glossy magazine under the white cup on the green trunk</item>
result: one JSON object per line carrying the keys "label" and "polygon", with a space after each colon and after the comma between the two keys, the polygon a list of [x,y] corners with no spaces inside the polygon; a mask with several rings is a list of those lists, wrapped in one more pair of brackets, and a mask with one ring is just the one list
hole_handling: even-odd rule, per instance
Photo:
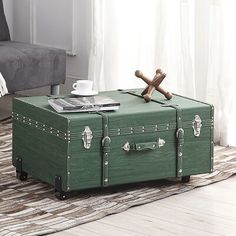
{"label": "glossy magazine under the white cup on the green trunk", "polygon": [[48,103],[58,113],[118,110],[120,103],[106,96],[49,98]]}

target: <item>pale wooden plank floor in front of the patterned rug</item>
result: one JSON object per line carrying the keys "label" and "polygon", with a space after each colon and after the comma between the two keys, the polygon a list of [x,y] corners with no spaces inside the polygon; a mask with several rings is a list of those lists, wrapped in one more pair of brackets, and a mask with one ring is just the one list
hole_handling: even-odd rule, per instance
{"label": "pale wooden plank floor in front of the patterned rug", "polygon": [[51,235],[236,235],[236,176]]}

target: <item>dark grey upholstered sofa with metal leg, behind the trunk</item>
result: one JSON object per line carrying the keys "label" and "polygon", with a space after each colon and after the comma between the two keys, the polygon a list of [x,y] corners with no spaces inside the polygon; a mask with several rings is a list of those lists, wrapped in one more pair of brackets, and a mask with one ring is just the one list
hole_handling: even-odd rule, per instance
{"label": "dark grey upholstered sofa with metal leg, behind the trunk", "polygon": [[14,42],[0,0],[0,72],[9,92],[51,86],[59,93],[66,78],[66,52],[62,49]]}

